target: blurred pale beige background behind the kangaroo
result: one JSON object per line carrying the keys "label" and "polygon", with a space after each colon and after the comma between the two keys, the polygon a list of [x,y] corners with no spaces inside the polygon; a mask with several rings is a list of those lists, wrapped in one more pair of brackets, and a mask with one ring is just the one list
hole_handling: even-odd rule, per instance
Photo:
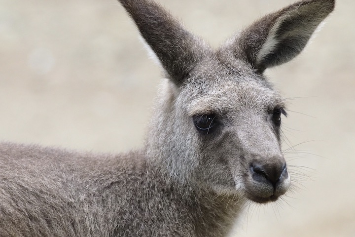
{"label": "blurred pale beige background behind the kangaroo", "polygon": [[[214,46],[293,0],[160,0]],[[355,236],[355,1],[338,0],[297,59],[268,70],[288,100],[284,201],[244,237]],[[103,152],[142,146],[159,68],[114,0],[0,0],[0,140]],[[298,145],[299,144],[299,145]]]}

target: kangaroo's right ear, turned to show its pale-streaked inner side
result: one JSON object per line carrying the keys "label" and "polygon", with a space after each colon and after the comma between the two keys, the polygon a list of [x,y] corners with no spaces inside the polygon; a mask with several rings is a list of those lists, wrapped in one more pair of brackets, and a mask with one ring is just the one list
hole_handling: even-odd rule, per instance
{"label": "kangaroo's right ear, turned to show its pale-streaked inner side", "polygon": [[296,2],[254,22],[232,39],[229,50],[259,73],[288,62],[303,50],[334,5],[335,0]]}

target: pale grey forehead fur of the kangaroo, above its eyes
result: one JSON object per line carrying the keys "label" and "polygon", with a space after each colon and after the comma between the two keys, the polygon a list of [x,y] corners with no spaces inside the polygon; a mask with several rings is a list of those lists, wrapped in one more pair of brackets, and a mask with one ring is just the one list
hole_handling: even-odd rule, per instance
{"label": "pale grey forehead fur of the kangaroo, above its eyes", "polygon": [[[208,73],[204,73],[208,72]],[[284,107],[284,100],[272,84],[252,70],[199,70],[181,88],[180,99],[189,116],[253,111],[264,113]]]}

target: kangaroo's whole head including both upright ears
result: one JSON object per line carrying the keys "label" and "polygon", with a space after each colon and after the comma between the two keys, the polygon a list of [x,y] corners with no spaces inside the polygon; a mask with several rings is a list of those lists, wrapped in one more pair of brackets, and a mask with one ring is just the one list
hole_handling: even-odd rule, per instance
{"label": "kangaroo's whole head including both upright ears", "polygon": [[171,177],[256,202],[290,186],[280,141],[284,100],[263,76],[298,55],[334,0],[303,0],[269,14],[218,49],[151,0],[120,0],[159,60],[163,81],[147,156]]}

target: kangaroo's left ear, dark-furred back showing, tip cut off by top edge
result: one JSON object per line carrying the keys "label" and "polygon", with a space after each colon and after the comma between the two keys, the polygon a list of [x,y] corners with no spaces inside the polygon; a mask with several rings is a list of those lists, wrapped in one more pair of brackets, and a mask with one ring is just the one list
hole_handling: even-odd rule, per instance
{"label": "kangaroo's left ear, dark-furred back showing, tip cut off by top edge", "polygon": [[135,21],[142,38],[155,53],[168,76],[181,84],[209,53],[206,44],[187,31],[152,0],[119,0]]}

